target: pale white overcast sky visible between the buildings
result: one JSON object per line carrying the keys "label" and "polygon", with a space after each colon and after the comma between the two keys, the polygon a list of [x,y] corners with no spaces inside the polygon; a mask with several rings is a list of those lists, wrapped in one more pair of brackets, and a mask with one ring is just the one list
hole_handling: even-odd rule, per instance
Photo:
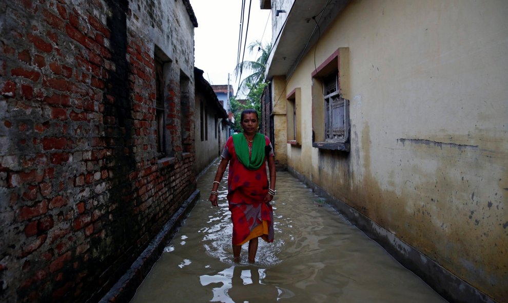
{"label": "pale white overcast sky visible between the buildings", "polygon": [[[251,1],[251,7],[246,48],[251,42],[261,38],[263,38],[263,44],[271,41],[270,10],[260,9],[259,0],[249,1]],[[240,61],[242,61],[245,43],[249,1],[245,1]],[[190,4],[198,19],[198,28],[194,29],[194,55],[196,56],[194,66],[204,70],[203,76],[212,85],[227,84],[227,74],[230,73],[229,84],[237,93],[240,81],[237,81],[234,71],[237,64],[242,1],[190,0]],[[250,54],[246,49],[244,60],[255,60],[258,56],[256,50]],[[249,73],[249,71],[243,71],[242,78]]]}

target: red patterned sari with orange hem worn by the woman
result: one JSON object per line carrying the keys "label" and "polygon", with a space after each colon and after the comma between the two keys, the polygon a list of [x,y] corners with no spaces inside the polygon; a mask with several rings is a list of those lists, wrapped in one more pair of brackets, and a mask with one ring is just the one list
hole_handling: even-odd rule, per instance
{"label": "red patterned sari with orange hem worn by the woman", "polygon": [[[265,145],[271,146],[266,136]],[[256,237],[273,242],[273,210],[270,204],[263,203],[268,193],[266,165],[257,170],[245,168],[237,158],[232,137],[227,140],[222,157],[229,159],[227,199],[233,222],[232,244],[242,245]]]}

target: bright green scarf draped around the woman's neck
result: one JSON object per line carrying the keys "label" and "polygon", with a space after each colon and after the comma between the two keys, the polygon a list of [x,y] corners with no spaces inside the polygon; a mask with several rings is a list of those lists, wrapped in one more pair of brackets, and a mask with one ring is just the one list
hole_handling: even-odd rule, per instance
{"label": "bright green scarf draped around the woman's neck", "polygon": [[233,144],[238,160],[249,170],[257,170],[265,163],[265,136],[256,133],[252,142],[252,155],[249,159],[249,147],[243,133],[233,135]]}

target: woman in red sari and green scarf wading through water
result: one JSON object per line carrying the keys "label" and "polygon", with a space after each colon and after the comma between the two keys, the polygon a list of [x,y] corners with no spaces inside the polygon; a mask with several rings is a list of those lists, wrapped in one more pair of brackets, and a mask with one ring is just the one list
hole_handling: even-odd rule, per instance
{"label": "woman in red sari and green scarf wading through water", "polygon": [[[243,133],[234,134],[227,140],[209,200],[213,206],[218,206],[217,189],[229,163],[227,200],[233,222],[233,259],[235,262],[240,261],[242,245],[248,242],[248,259],[253,263],[258,251],[258,237],[273,242],[273,211],[270,201],[277,194],[275,155],[268,137],[257,132],[259,120],[255,110],[244,110],[240,123]],[[269,183],[266,161],[270,172]]]}

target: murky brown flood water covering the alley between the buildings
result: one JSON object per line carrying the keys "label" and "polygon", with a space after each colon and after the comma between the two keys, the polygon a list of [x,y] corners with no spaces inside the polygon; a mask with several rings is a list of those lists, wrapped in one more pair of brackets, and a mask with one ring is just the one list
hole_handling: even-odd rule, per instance
{"label": "murky brown flood water covering the alley between the buildings", "polygon": [[198,179],[201,198],[132,299],[146,302],[446,302],[287,172],[272,201],[275,241],[256,263],[232,260],[227,171],[219,208],[208,195],[219,161]]}

